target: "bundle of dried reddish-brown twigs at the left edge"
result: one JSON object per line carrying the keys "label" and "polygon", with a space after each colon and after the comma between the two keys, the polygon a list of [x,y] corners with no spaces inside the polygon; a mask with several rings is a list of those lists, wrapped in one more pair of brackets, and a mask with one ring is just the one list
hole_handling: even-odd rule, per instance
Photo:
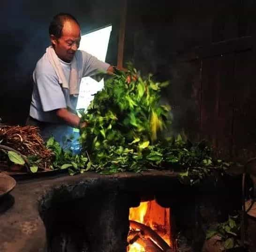
{"label": "bundle of dried reddish-brown twigs at the left edge", "polygon": [[38,156],[50,160],[51,150],[45,148],[37,126],[8,126],[0,124],[1,144],[19,151],[24,156]]}

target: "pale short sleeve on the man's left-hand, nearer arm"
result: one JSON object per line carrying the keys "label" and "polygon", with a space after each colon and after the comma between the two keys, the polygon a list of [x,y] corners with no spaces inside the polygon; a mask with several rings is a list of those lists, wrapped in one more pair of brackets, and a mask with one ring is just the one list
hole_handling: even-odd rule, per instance
{"label": "pale short sleeve on the man's left-hand, nearer arm", "polygon": [[43,111],[53,111],[67,107],[60,84],[53,75],[35,73],[34,78]]}

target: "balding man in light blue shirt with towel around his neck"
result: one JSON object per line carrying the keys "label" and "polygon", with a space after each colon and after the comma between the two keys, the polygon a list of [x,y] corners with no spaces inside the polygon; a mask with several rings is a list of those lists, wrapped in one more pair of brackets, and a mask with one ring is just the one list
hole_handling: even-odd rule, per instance
{"label": "balding man in light blue shirt with towel around his neck", "polygon": [[111,74],[114,69],[78,50],[81,29],[72,15],[54,16],[49,35],[52,45],[38,60],[33,72],[34,88],[27,125],[39,126],[45,140],[53,135],[61,142],[63,135],[72,133],[72,127],[86,126],[75,113],[82,78],[99,71]]}

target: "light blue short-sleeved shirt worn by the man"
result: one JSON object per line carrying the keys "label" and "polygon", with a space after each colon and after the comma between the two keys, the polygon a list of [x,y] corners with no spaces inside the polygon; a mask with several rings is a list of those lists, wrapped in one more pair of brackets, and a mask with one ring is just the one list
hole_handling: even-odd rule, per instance
{"label": "light blue short-sleeved shirt worn by the man", "polygon": [[[85,76],[95,75],[98,71],[106,71],[109,64],[98,60],[96,57],[84,51],[76,51],[77,71],[79,83]],[[69,77],[70,64],[60,60],[63,72]],[[77,97],[69,95],[69,89],[64,89],[58,82],[58,76],[46,56],[46,53],[38,60],[33,72],[34,87],[30,116],[38,121],[49,123],[63,123],[56,116],[54,110],[69,108],[75,111]]]}

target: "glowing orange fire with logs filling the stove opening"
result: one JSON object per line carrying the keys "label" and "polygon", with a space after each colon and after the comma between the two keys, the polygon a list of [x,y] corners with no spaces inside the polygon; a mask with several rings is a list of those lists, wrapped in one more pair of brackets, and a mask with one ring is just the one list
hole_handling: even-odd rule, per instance
{"label": "glowing orange fire with logs filling the stove opening", "polygon": [[170,208],[156,200],[141,202],[130,208],[128,252],[171,252]]}

